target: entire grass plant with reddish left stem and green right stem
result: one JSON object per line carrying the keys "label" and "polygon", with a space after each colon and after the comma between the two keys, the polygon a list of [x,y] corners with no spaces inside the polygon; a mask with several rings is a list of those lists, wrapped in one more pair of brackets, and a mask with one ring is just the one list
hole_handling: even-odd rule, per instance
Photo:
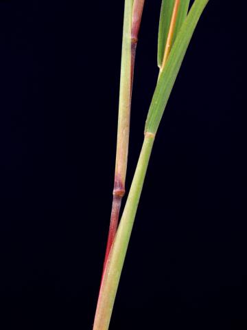
{"label": "entire grass plant with reddish left stem and green right stem", "polygon": [[208,2],[209,0],[195,0],[188,12],[189,0],[162,1],[158,29],[159,74],[145,122],[143,146],[137,168],[117,227],[121,199],[125,192],[134,56],[144,4],[143,0],[125,1],[113,210],[93,330],[107,330],[109,327],[156,132],[191,37]]}

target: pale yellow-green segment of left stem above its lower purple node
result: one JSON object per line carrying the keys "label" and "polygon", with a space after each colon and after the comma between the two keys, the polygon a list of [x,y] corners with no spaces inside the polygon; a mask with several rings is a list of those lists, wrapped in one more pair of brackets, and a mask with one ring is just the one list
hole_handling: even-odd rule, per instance
{"label": "pale yellow-green segment of left stem above its lower purple node", "polygon": [[124,32],[121,52],[121,77],[119,91],[119,118],[117,126],[117,155],[115,177],[124,188],[128,159],[130,133],[130,98],[131,98],[131,27],[133,0],[126,0],[124,6]]}

